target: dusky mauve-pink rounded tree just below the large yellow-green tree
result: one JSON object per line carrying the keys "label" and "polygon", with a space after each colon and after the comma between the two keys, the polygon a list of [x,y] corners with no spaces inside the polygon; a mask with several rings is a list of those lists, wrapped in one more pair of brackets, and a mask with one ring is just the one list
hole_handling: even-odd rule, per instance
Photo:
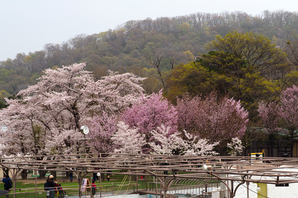
{"label": "dusky mauve-pink rounded tree just below the large yellow-green tree", "polygon": [[248,112],[240,101],[224,97],[217,101],[212,93],[199,106],[197,125],[202,136],[225,144],[232,138],[241,138],[246,130]]}

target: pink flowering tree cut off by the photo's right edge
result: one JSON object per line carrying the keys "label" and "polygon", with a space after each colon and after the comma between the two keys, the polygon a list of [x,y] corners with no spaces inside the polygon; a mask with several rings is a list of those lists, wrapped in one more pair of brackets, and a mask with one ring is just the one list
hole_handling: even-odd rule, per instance
{"label": "pink flowering tree cut off by the photo's right edge", "polygon": [[282,92],[283,118],[286,120],[291,139],[297,137],[298,130],[298,86],[293,85]]}

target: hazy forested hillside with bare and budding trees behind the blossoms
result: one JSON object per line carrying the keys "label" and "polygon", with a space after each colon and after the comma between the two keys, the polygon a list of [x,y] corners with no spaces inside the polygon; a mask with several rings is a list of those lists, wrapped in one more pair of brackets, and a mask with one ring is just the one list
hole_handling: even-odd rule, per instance
{"label": "hazy forested hillside with bare and budding trees behind the blossoms", "polygon": [[[223,50],[219,46],[205,48],[207,43],[216,40],[217,35],[225,36],[229,32],[236,31],[243,34],[253,32],[256,35],[268,37],[272,44],[276,44],[274,48],[288,52],[282,55],[283,60],[281,60],[287,59],[288,63],[282,64],[292,65],[291,70],[295,70],[293,65],[298,62],[295,56],[297,30],[298,13],[282,10],[264,11],[259,16],[252,16],[245,12],[194,13],[186,16],[160,17],[156,20],[147,18],[127,21],[115,30],[93,35],[77,35],[62,44],[46,44],[43,50],[29,54],[18,53],[14,59],[1,61],[0,100],[4,102],[4,98],[18,93],[28,85],[36,84],[36,78],[40,77],[46,68],[86,62],[86,69],[92,71],[96,79],[106,75],[109,69],[148,77],[144,81],[146,93],[158,92],[163,88],[164,94],[168,94],[168,98],[173,101],[176,95],[181,95],[180,92],[190,92],[190,89],[184,89],[185,86],[182,90],[173,89],[179,86],[173,82],[172,70],[180,63],[193,64],[194,60],[197,60],[196,64],[203,64],[202,61],[206,59],[203,60],[202,57],[207,57],[210,50]],[[269,40],[266,42],[270,42]],[[209,53],[209,60],[212,62],[215,56],[210,55],[214,54]],[[180,64],[179,67],[181,68],[182,65]],[[215,68],[213,70],[216,71]],[[281,70],[290,72],[289,67],[283,67]],[[243,75],[245,73],[247,72]],[[174,74],[178,75],[179,72],[177,73],[176,70]],[[293,84],[296,79],[294,72],[291,79],[290,84]],[[270,76],[267,80],[277,80],[277,78]],[[282,89],[288,84],[283,81],[283,85],[274,86]],[[231,97],[241,101],[244,99],[246,108],[255,108],[257,101],[251,101],[248,97],[251,93],[246,90],[246,95],[241,98],[235,91],[238,88],[233,84],[225,91],[233,90],[234,94]],[[280,93],[277,87],[272,89],[272,92]],[[259,93],[262,93],[262,90]],[[270,96],[274,97],[277,94]],[[259,99],[264,97],[260,96]]]}

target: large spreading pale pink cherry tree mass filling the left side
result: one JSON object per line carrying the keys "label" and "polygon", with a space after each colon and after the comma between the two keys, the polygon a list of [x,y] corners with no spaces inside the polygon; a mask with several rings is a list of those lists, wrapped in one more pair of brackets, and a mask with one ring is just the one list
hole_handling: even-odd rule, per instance
{"label": "large spreading pale pink cherry tree mass filling the left side", "polygon": [[[47,69],[39,82],[22,90],[1,110],[1,132],[9,141],[7,152],[35,155],[81,153],[80,126],[103,112],[118,113],[132,105],[143,92],[144,78],[109,72],[94,81],[85,63]],[[103,118],[104,119],[104,118]]]}

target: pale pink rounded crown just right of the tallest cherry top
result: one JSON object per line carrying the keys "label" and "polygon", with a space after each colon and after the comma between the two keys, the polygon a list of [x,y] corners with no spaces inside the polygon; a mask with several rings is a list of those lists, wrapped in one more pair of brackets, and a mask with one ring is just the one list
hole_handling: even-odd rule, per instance
{"label": "pale pink rounded crown just right of the tallest cherry top", "polygon": [[144,89],[141,83],[146,78],[137,77],[132,73],[119,74],[119,72],[108,71],[107,76],[100,80],[89,83],[85,89],[88,98],[88,112],[94,115],[107,113],[121,113],[128,106],[139,101]]}

